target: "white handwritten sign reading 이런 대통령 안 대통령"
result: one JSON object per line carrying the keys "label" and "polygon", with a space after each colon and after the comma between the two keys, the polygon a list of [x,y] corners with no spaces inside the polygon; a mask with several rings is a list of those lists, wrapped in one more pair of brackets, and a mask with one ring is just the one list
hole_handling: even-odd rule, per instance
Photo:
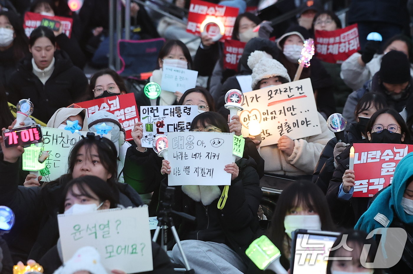
{"label": "white handwritten sign reading \uc774\ub7f0 \ub300\ud1b5\ub839 \uc548 \ub300\ud1b5\ub839", "polygon": [[157,135],[189,131],[192,120],[198,114],[198,106],[141,106],[142,147],[152,147]]}

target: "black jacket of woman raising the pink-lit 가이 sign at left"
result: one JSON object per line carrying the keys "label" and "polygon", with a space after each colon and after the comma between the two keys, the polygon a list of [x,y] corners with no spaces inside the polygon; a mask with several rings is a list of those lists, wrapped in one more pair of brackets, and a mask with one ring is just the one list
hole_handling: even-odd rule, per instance
{"label": "black jacket of woman raising the pink-lit \uac00\uc774 sign at left", "polygon": [[[64,185],[71,175],[63,175],[44,187],[19,186],[19,161],[0,161],[0,204],[11,208],[16,215],[14,227],[4,238],[14,261],[38,260],[59,238],[57,213],[62,203]],[[115,183],[122,206],[140,206],[139,194],[128,184]]]}

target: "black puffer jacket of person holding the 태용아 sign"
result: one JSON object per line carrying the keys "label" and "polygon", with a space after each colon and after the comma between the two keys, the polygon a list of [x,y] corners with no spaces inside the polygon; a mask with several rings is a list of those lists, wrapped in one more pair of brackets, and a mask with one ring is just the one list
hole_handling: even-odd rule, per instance
{"label": "black puffer jacket of person holding the \ud0dc\uc6a9\uc544 sign", "polygon": [[[245,255],[245,250],[256,239],[256,232],[259,229],[257,210],[262,191],[259,187],[255,161],[251,157],[241,158],[237,161],[237,165],[240,168],[240,173],[231,182],[228,199],[222,210],[217,208],[218,198],[210,205],[203,206],[202,203],[195,202],[184,194],[180,186],[175,187],[173,209],[195,216],[197,220],[190,222],[174,218],[174,222],[179,228],[178,234],[181,240],[198,238],[202,241],[225,243],[247,264],[248,258]],[[161,187],[165,189],[167,184],[168,178],[165,178],[161,182]],[[223,190],[223,186],[219,186],[219,188],[221,191]],[[163,193],[165,191],[161,191],[161,201]],[[210,229],[207,229],[207,223]]]}

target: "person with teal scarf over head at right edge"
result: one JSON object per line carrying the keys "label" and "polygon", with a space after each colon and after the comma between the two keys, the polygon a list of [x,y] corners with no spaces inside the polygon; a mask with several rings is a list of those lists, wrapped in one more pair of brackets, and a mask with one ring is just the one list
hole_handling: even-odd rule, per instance
{"label": "person with teal scarf over head at right edge", "polygon": [[[407,154],[397,164],[392,184],[383,189],[368,210],[360,217],[354,229],[370,233],[376,228],[400,227],[408,236],[399,262],[386,273],[411,273],[413,271],[413,153]],[[383,218],[377,221],[376,215]],[[376,236],[376,242],[378,242]]]}

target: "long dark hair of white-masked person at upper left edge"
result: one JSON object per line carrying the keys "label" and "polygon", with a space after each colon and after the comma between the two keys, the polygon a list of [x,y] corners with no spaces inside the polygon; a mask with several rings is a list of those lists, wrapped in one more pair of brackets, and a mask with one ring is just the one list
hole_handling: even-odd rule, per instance
{"label": "long dark hair of white-masked person at upper left edge", "polygon": [[0,11],[0,16],[4,15],[13,26],[16,37],[13,40],[13,59],[19,61],[28,53],[28,38],[24,33],[23,23],[14,12]]}

